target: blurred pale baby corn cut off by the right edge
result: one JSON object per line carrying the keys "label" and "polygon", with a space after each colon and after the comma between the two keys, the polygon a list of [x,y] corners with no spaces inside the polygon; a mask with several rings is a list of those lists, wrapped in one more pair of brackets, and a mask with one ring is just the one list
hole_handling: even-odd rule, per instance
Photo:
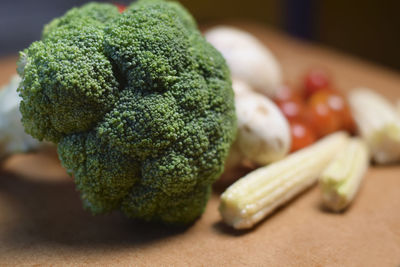
{"label": "blurred pale baby corn cut off by the right edge", "polygon": [[360,88],[349,94],[349,103],[360,135],[376,163],[400,160],[400,115],[379,94]]}

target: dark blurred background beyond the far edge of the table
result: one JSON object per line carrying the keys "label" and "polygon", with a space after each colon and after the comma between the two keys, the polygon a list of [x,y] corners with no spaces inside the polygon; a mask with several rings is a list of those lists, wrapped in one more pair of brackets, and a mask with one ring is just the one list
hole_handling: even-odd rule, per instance
{"label": "dark blurred background beyond the far edge of the table", "polygon": [[[40,39],[43,24],[85,0],[0,1],[0,58]],[[108,1],[110,2],[110,1]],[[111,1],[112,2],[112,1]],[[131,1],[119,0],[128,4]],[[181,0],[199,23],[240,19],[270,25],[400,70],[400,1]]]}

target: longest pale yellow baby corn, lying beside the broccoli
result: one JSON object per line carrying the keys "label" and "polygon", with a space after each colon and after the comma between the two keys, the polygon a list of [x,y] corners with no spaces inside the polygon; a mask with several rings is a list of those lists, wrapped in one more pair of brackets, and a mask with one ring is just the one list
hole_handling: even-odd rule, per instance
{"label": "longest pale yellow baby corn, lying beside the broccoli", "polygon": [[219,211],[224,222],[236,229],[254,226],[275,208],[314,184],[348,139],[343,132],[331,134],[239,179],[221,196]]}

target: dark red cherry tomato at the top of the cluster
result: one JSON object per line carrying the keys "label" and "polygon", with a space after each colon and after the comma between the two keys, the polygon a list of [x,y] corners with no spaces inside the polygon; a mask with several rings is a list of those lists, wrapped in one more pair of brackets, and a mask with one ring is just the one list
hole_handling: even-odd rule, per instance
{"label": "dark red cherry tomato at the top of the cluster", "polygon": [[322,69],[311,69],[304,78],[304,93],[307,97],[331,85],[329,74]]}

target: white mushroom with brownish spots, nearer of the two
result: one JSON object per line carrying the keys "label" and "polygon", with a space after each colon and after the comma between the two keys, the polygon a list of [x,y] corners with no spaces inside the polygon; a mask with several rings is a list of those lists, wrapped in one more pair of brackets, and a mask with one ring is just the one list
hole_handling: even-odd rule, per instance
{"label": "white mushroom with brownish spots, nearer of the two", "polygon": [[233,81],[238,134],[236,144],[245,159],[266,165],[282,159],[290,149],[290,130],[278,107],[244,82]]}

